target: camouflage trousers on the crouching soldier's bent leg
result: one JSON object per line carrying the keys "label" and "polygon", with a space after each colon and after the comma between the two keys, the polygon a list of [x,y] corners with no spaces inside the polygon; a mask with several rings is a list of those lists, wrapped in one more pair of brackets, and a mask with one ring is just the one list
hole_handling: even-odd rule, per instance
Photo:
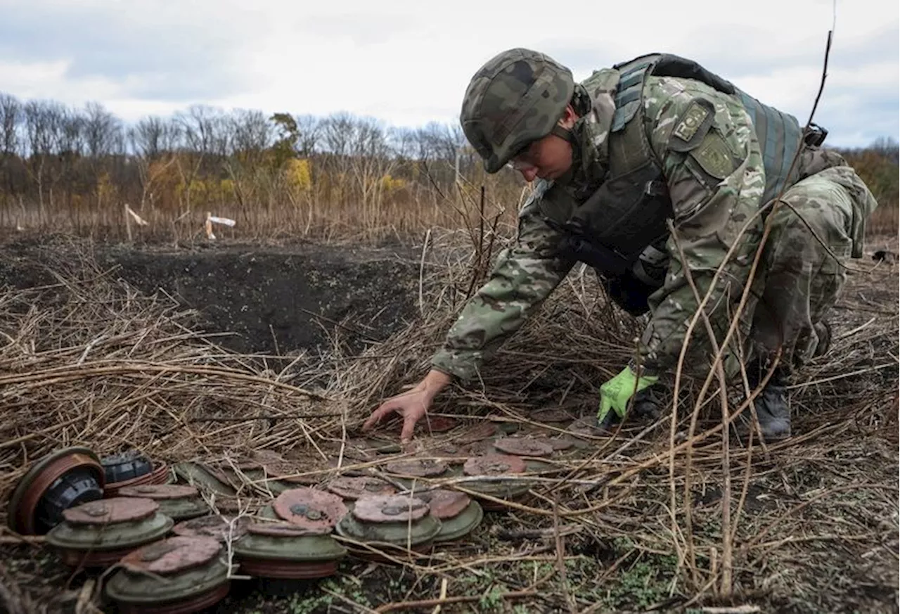
{"label": "camouflage trousers on the crouching soldier's bent leg", "polygon": [[824,319],[847,281],[875,199],[851,167],[827,168],[785,191],[770,212],[762,253],[761,296],[752,314],[752,356],[781,352],[782,376],[823,354]]}

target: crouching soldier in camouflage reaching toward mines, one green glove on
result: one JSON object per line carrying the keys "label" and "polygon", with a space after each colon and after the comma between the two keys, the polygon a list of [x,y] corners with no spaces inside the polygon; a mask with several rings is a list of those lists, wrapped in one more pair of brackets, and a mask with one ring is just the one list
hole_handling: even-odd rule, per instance
{"label": "crouching soldier in camouflage reaching toward mines, one green glove on", "polygon": [[[536,185],[515,244],[428,375],[364,428],[397,412],[409,440],[437,393],[471,380],[578,262],[626,311],[649,312],[635,357],[600,386],[599,424],[624,418],[676,366],[697,293],[710,294],[705,312],[717,343],[725,339],[770,218],[724,366],[730,378],[746,373],[751,389],[765,384],[753,403],[761,435],[789,437],[785,385],[827,350],[824,316],[877,206],[843,158],[820,148],[823,129],[805,131],[688,59],[643,56],[576,84],[568,68],[525,49],[475,73],[461,121],[489,173],[509,165]],[[702,321],[687,342],[684,364],[708,369],[715,352]]]}

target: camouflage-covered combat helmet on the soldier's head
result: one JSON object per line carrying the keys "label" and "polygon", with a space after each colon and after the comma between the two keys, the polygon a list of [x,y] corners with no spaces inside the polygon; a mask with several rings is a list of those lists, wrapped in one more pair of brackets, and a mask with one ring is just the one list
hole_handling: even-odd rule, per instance
{"label": "camouflage-covered combat helmet on the soldier's head", "polygon": [[511,49],[488,60],[466,88],[460,115],[485,170],[496,173],[554,132],[574,87],[569,68],[537,51]]}

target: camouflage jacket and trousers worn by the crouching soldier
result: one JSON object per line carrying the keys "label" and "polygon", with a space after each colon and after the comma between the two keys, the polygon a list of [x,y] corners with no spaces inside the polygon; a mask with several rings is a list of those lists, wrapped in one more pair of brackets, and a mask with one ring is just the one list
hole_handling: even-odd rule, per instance
{"label": "camouflage jacket and trousers worn by the crouching soldier", "polygon": [[[519,214],[518,239],[500,253],[491,278],[465,305],[433,357],[438,370],[464,381],[473,378],[482,361],[538,309],[579,259],[560,247],[568,233],[556,209],[563,203],[563,217],[577,211],[608,183],[608,169],[618,159],[634,157],[642,147],[662,171],[664,194],[658,201],[669,209],[674,232],[666,230],[652,246],[644,240],[650,235],[638,241],[642,250],[655,246],[653,266],[663,275],[646,295],[651,316],[635,361],[650,373],[675,366],[698,308],[688,275],[703,296],[720,266],[707,313],[716,338],[725,337],[770,212],[770,237],[743,312],[741,338],[751,341],[729,348],[726,365],[734,375],[736,358],[750,348],[763,357],[783,348],[788,364],[802,364],[815,353],[819,323],[846,278],[844,263],[861,256],[865,221],[877,206],[868,188],[840,156],[817,147],[804,147],[799,167],[788,176],[793,156],[776,160],[770,149],[761,149],[760,126],[754,126],[745,95],[726,94],[698,79],[645,77],[637,103],[642,113],[632,111],[622,122],[618,76],[616,70],[598,71],[576,86],[574,95],[589,93],[592,109],[582,110],[587,117],[573,129],[572,170],[556,181],[536,183]],[[611,131],[631,136],[614,140]],[[498,160],[489,162],[496,170]],[[783,186],[783,204],[763,207]],[[632,218],[641,221],[642,212]],[[633,238],[625,239],[620,245]],[[608,270],[599,274],[614,277]],[[704,366],[711,353],[701,322],[685,365]]]}

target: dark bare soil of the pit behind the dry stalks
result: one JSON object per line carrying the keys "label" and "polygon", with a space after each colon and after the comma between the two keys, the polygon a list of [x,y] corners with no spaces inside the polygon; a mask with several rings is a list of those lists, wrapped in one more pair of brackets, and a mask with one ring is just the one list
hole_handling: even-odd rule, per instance
{"label": "dark bare soil of the pit behind the dry stalks", "polygon": [[244,354],[292,356],[358,350],[403,326],[413,311],[419,263],[409,248],[204,243],[183,248],[18,239],[0,257],[0,287],[53,284],[50,263],[85,247],[143,293],[166,293],[199,312],[202,330]]}

